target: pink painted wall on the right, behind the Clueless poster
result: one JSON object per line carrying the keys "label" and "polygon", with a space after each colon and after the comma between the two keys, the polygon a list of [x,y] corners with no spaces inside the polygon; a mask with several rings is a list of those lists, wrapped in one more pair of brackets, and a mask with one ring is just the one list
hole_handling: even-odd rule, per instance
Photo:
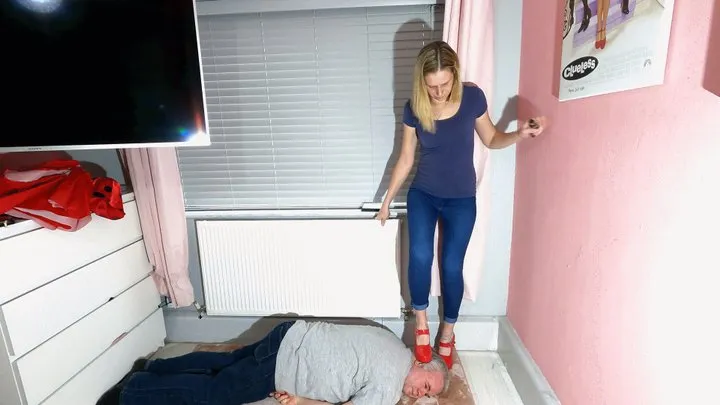
{"label": "pink painted wall on the right, behind the Clueless poster", "polygon": [[715,403],[713,1],[676,0],[665,85],[564,103],[560,3],[523,5],[521,117],[552,127],[518,149],[510,321],[563,405]]}

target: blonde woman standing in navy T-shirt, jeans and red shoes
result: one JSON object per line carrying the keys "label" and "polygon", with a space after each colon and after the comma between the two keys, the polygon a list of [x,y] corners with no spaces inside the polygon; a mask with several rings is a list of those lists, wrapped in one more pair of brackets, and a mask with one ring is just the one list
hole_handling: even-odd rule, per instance
{"label": "blonde woman standing in navy T-shirt, jeans and red shoes", "polygon": [[426,309],[434,255],[435,226],[443,227],[441,286],[443,325],[438,354],[452,366],[454,326],[463,298],[463,262],[475,224],[477,181],[473,165],[475,131],[490,149],[502,149],[542,133],[545,119],[535,118],[512,133],[498,131],[488,116],[483,91],[460,81],[455,51],[437,41],[423,47],[415,63],[412,98],[403,114],[403,141],[387,196],[376,218],[382,224],[390,203],[405,182],[420,143],[420,161],[407,194],[410,245],[408,278],[415,311],[415,356],[432,359]]}

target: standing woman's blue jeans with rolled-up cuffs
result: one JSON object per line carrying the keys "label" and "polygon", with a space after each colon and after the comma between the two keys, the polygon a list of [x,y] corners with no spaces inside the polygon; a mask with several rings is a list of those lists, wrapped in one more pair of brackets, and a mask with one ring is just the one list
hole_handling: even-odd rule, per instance
{"label": "standing woman's blue jeans with rolled-up cuffs", "polygon": [[428,307],[434,258],[435,225],[440,220],[439,239],[443,320],[455,323],[463,291],[463,263],[475,226],[475,197],[439,198],[415,188],[407,194],[407,221],[410,245],[408,282],[415,310]]}

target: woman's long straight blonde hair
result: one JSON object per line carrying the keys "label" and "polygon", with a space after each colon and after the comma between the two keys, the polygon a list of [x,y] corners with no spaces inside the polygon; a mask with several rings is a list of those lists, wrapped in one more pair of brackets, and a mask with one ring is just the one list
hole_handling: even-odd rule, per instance
{"label": "woman's long straight blonde hair", "polygon": [[460,62],[455,50],[445,41],[431,42],[420,50],[415,61],[410,106],[420,125],[430,133],[435,132],[435,117],[432,113],[430,94],[425,84],[425,75],[445,69],[453,75],[449,101],[459,103],[462,99],[462,82],[460,81]]}

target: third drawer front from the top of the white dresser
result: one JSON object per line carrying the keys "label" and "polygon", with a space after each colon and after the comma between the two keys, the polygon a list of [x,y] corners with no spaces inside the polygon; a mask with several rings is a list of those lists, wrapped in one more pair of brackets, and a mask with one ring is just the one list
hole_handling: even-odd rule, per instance
{"label": "third drawer front from the top of the white dresser", "polygon": [[158,309],[159,295],[147,277],[16,362],[27,398],[37,405],[90,364],[123,334]]}

